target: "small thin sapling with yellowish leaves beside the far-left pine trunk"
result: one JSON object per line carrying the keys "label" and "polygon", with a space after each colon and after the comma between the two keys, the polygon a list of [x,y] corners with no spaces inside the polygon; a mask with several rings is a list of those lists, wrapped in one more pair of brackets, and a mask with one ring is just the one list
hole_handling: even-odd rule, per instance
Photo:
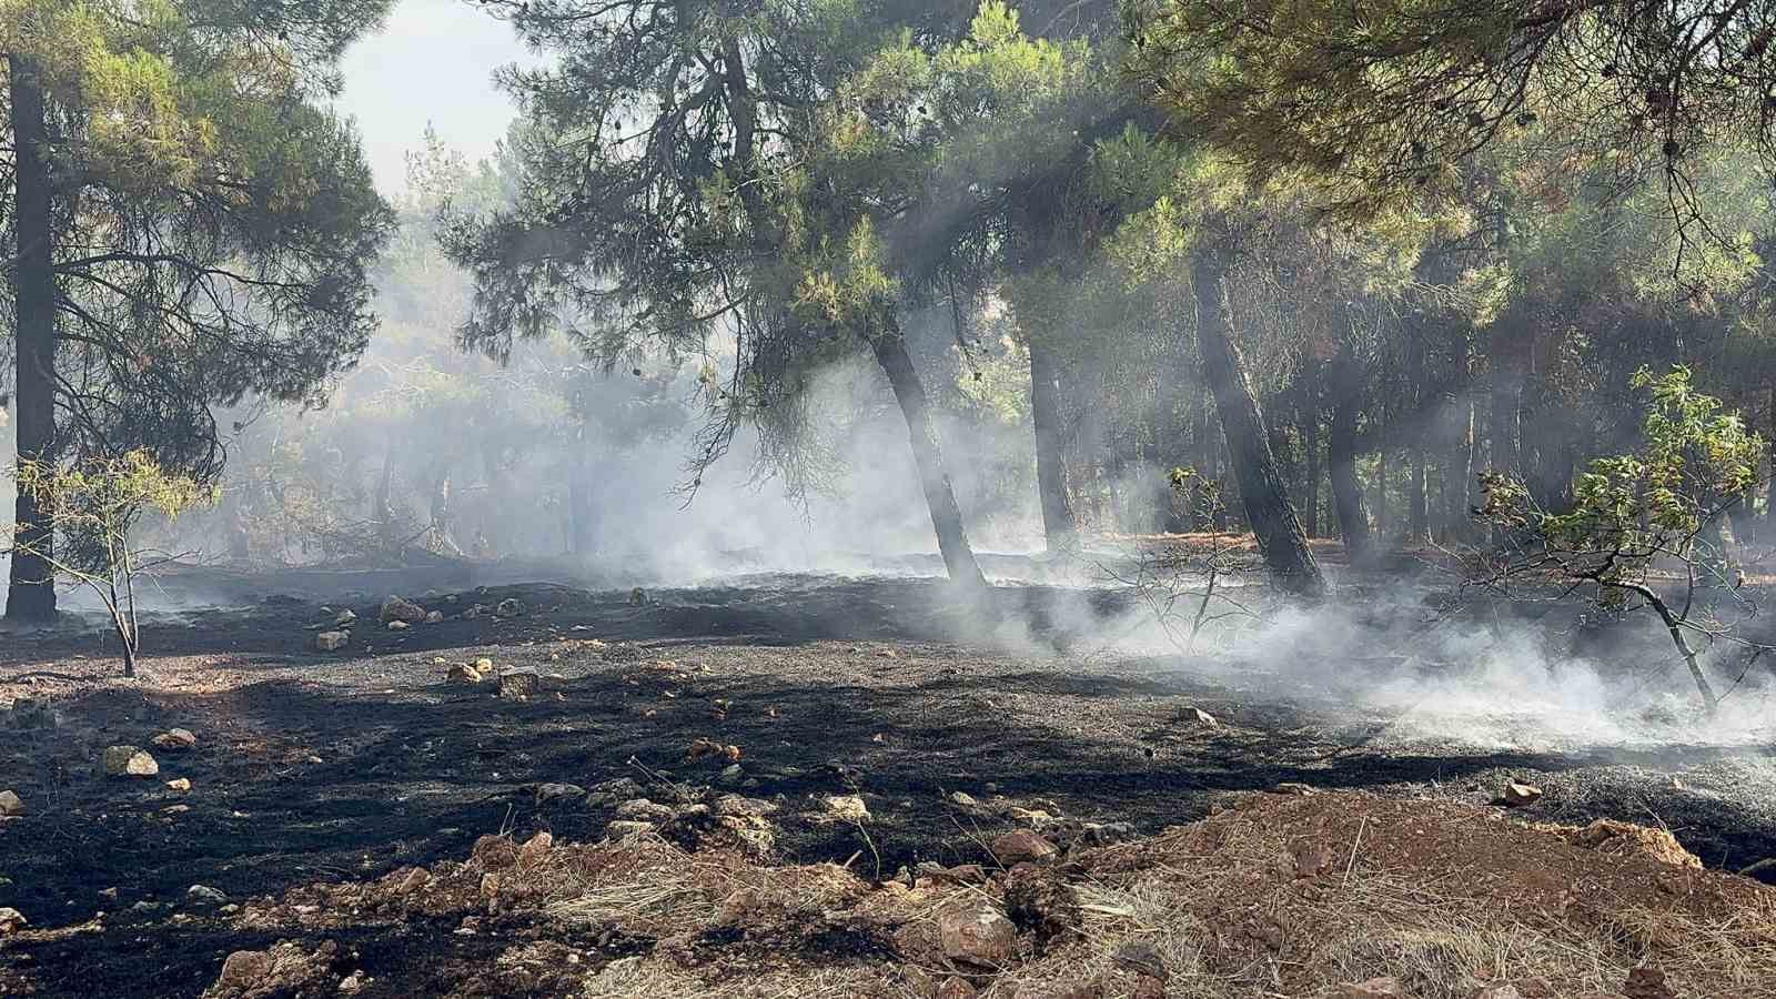
{"label": "small thin sapling with yellowish leaves beside the far-left pine trunk", "polygon": [[[128,452],[115,459],[92,457],[62,468],[27,462],[16,471],[18,491],[30,494],[41,510],[55,510],[55,530],[62,544],[32,547],[23,537],[12,544],[20,553],[43,560],[75,585],[91,590],[110,617],[117,645],[123,649],[123,675],[135,675],[135,658],[142,649],[137,629],[137,578],[163,560],[160,553],[139,546],[135,528],[144,514],[174,521],[197,505],[215,503],[215,489],[197,480],[162,469],[147,452]],[[25,533],[18,526],[20,535]]]}

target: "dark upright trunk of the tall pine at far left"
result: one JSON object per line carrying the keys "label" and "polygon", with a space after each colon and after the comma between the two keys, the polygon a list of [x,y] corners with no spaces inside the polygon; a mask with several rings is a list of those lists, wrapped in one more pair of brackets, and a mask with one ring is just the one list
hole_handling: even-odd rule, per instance
{"label": "dark upright trunk of the tall pine at far left", "polygon": [[[18,388],[18,464],[55,460],[55,265],[50,222],[48,117],[37,66],[7,59],[12,116],[12,190],[16,197],[18,263],[12,302],[18,315],[14,379]],[[5,615],[12,620],[55,619],[55,508],[50,496],[20,489],[14,507],[18,537]]]}

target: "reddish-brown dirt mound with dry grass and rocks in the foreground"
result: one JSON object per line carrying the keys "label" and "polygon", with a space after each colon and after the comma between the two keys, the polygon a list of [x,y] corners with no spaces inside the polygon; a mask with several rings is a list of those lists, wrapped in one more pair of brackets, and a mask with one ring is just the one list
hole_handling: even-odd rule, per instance
{"label": "reddish-brown dirt mound with dry grass and rocks in the foreground", "polygon": [[346,990],[419,983],[392,979],[387,955],[353,967],[334,939],[426,924],[480,942],[412,937],[442,995],[1776,997],[1776,891],[1691,860],[1625,823],[1249,795],[1151,839],[881,883],[646,834],[483,837],[462,862],[309,885],[236,924],[307,940],[279,946]]}

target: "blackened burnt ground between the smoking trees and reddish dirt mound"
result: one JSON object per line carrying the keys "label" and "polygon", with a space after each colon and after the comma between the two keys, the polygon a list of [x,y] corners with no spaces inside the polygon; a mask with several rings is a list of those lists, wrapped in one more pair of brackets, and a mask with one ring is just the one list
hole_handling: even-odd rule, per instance
{"label": "blackened burnt ground between the smoking trees and reddish dirt mound", "polygon": [[[1121,656],[1083,636],[1126,610],[1114,594],[1007,587],[963,613],[920,579],[769,576],[650,590],[641,606],[627,590],[517,585],[421,603],[517,597],[522,617],[401,635],[373,626],[377,597],[327,604],[361,617],[339,654],[309,649],[307,626],[330,619],[313,594],[151,624],[135,681],[114,677],[101,636],[4,636],[0,702],[46,699],[59,723],[0,729],[0,789],[27,805],[0,823],[0,907],[69,931],[0,942],[0,994],[197,995],[227,953],[272,939],[192,908],[190,885],[245,899],[380,876],[503,830],[597,841],[607,809],[538,803],[535,787],[721,780],[725,761],[687,761],[696,738],[741,748],[728,780],[746,795],[861,793],[867,832],[789,825],[778,851],[870,876],[980,859],[996,830],[952,791],[1156,832],[1282,782],[1485,803],[1520,779],[1547,791],[1522,809],[1534,821],[1661,825],[1724,869],[1776,855],[1769,747],[1536,752],[1405,732],[1343,697],[1380,659],[1330,670],[1328,686]],[[552,675],[524,702],[446,683],[439,659],[478,656]],[[169,727],[199,743],[156,750],[156,779],[94,775],[103,747],[147,747]],[[174,777],[194,789],[167,789]],[[428,947],[485,946],[423,921],[346,942],[387,955],[387,994],[424,990],[412,962]]]}

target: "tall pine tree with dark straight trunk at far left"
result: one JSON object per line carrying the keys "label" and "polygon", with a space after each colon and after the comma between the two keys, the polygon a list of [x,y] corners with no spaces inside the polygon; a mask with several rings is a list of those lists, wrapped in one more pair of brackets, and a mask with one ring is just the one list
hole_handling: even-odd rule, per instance
{"label": "tall pine tree with dark straight trunk at far left", "polygon": [[[387,210],[309,100],[385,7],[0,2],[21,464],[210,478],[211,404],[307,398],[362,350]],[[53,521],[20,492],[9,617],[55,613]]]}

